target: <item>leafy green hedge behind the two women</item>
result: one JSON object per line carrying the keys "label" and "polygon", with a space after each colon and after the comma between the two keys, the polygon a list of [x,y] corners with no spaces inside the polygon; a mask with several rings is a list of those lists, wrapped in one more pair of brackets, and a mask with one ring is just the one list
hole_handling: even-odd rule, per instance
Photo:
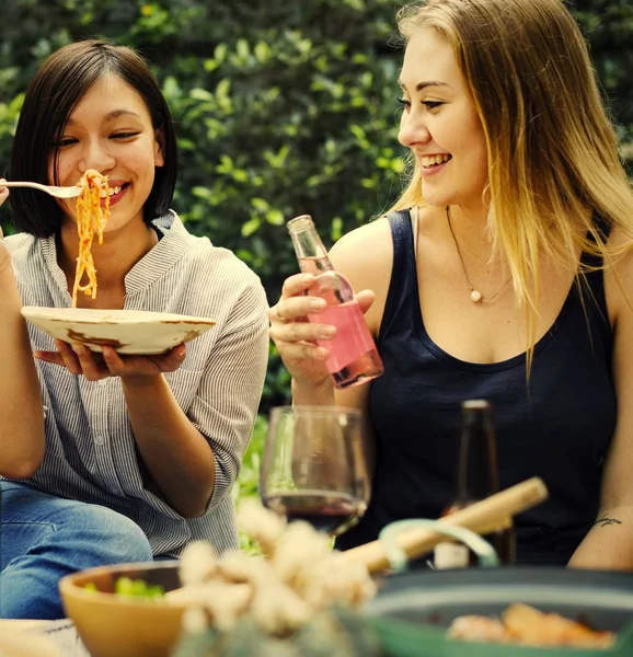
{"label": "leafy green hedge behind the two women", "polygon": [[[284,223],[313,215],[325,241],[370,220],[401,189],[395,83],[403,0],[0,0],[0,174],[23,91],[77,38],[140,49],[161,82],[182,152],[174,209],[191,231],[233,250],[269,301],[297,270]],[[633,3],[577,0],[574,12],[613,120],[633,142]],[[633,161],[633,146],[623,150]],[[633,210],[633,209],[632,209]],[[10,210],[1,215],[11,232]],[[262,413],[287,401],[274,350]],[[254,472],[260,420],[241,480]],[[254,459],[254,461],[253,461]]]}

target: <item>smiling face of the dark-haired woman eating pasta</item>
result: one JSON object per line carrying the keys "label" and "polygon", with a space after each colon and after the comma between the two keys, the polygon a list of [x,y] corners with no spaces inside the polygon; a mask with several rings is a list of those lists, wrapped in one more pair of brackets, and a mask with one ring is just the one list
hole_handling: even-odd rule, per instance
{"label": "smiling face of the dark-haired woman eating pasta", "polygon": [[[154,168],[164,164],[163,153],[149,111],[140,94],[114,74],[106,74],[89,89],[72,110],[48,162],[48,178],[74,185],[88,169],[107,175],[111,219],[105,231],[130,221],[142,221],[142,209],[154,182]],[[74,201],[62,205],[74,220]]]}

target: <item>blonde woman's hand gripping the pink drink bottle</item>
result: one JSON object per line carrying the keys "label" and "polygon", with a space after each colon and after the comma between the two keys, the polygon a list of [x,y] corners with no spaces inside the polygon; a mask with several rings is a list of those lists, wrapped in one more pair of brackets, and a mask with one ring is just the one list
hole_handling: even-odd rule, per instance
{"label": "blonde woman's hand gripping the pink drink bottle", "polygon": [[[326,309],[326,301],[308,293],[315,281],[312,274],[295,274],[285,280],[281,297],[268,311],[271,337],[297,384],[332,388],[326,366],[330,350],[323,344],[336,335],[336,327],[318,321],[318,315]],[[355,299],[365,313],[373,303],[373,292],[360,291]],[[312,321],[308,321],[308,315],[312,315]]]}

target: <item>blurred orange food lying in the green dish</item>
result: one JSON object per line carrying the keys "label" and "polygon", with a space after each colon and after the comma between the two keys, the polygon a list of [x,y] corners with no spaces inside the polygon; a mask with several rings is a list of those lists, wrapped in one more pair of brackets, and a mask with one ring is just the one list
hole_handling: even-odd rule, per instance
{"label": "blurred orange food lying in the green dish", "polygon": [[526,646],[609,648],[612,632],[596,632],[557,613],[543,613],[529,604],[510,604],[502,618],[463,615],[448,629],[448,636],[463,641],[513,643]]}

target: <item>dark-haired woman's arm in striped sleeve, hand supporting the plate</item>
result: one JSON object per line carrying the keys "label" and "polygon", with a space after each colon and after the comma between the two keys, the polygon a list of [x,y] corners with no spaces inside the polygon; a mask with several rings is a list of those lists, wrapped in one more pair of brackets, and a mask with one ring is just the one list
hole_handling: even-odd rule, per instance
{"label": "dark-haired woman's arm in striped sleeve, hand supporting the plate", "polygon": [[264,290],[253,279],[221,327],[186,414],[163,373],[181,366],[184,345],[151,357],[120,357],[104,348],[99,360],[82,345],[56,341],[59,351],[38,351],[37,357],[93,381],[120,377],[139,456],[152,483],[177,514],[195,518],[220,502],[240,471],[268,360],[266,310]]}

